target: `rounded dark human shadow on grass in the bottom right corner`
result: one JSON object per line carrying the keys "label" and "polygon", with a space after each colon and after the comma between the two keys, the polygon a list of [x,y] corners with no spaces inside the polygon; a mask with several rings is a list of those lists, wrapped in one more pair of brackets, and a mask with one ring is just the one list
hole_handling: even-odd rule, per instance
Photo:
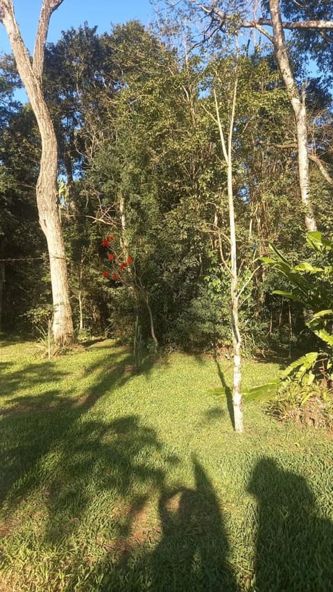
{"label": "rounded dark human shadow on grass in the bottom right corner", "polygon": [[261,459],[250,478],[257,514],[257,592],[332,592],[333,523],[304,477]]}

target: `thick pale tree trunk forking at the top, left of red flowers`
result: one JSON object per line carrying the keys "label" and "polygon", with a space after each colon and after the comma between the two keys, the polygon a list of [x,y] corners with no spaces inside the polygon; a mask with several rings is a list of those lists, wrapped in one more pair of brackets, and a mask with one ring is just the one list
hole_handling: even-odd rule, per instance
{"label": "thick pale tree trunk forking at the top, left of red flowers", "polygon": [[40,226],[46,237],[49,250],[53,298],[53,337],[57,344],[66,345],[72,341],[74,331],[69,302],[65,245],[58,214],[58,145],[42,90],[44,46],[49,20],[52,12],[61,3],[62,0],[42,1],[32,64],[17,26],[12,0],[0,0],[0,20],[6,28],[17,70],[26,88],[40,130],[42,155],[36,186],[37,208]]}

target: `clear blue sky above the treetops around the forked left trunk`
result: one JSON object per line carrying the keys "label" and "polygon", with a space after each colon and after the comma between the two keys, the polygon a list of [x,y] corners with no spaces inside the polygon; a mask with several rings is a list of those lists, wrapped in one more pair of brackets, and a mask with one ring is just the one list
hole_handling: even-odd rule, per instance
{"label": "clear blue sky above the treetops around the forked left trunk", "polygon": [[[35,32],[42,0],[13,0],[15,15],[22,37],[29,51],[33,51]],[[60,39],[61,31],[77,28],[85,21],[98,25],[98,32],[110,31],[110,23],[124,23],[139,19],[148,24],[153,20],[153,6],[149,0],[64,0],[51,17],[48,41]],[[0,24],[0,52],[10,53],[6,31]]]}

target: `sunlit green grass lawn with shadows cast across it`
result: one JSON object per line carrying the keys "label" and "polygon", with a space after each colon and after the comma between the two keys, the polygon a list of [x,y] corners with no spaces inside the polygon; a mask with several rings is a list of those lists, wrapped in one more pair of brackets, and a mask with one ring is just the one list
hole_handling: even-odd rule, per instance
{"label": "sunlit green grass lawn with shadows cast across it", "polygon": [[327,433],[249,403],[235,434],[226,360],[34,353],[0,343],[1,592],[333,591]]}

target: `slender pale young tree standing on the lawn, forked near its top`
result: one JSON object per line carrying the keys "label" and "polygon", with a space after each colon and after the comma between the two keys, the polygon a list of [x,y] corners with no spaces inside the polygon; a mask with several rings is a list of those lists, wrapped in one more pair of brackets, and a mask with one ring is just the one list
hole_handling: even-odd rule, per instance
{"label": "slender pale young tree standing on the lawn, forked near its top", "polygon": [[214,91],[216,120],[219,126],[221,146],[228,174],[228,210],[230,226],[230,271],[231,271],[231,323],[232,323],[232,347],[234,362],[234,380],[232,388],[232,407],[234,411],[234,430],[239,434],[244,432],[244,418],[241,396],[241,333],[239,331],[239,294],[238,294],[238,273],[237,273],[237,242],[236,225],[234,221],[234,194],[232,188],[232,130],[234,128],[234,113],[237,99],[237,79],[234,85],[232,99],[232,112],[228,131],[228,143],[225,144],[223,128],[219,115],[219,104]]}

